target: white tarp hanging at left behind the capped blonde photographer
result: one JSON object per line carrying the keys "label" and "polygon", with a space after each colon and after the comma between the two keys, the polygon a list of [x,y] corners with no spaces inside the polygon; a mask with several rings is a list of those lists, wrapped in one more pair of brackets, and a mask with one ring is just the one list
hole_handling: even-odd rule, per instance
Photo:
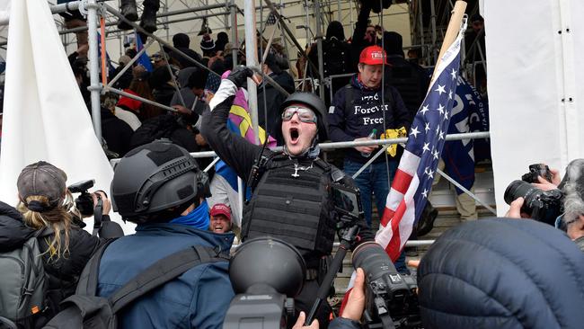
{"label": "white tarp hanging at left behind the capped blonde photographer", "polygon": [[[0,200],[17,203],[19,173],[39,160],[62,168],[67,184],[94,179],[94,189],[110,191],[113,171],[94,135],[47,1],[13,1],[6,59]],[[86,222],[91,229],[93,222]],[[127,233],[134,230],[122,226]]]}

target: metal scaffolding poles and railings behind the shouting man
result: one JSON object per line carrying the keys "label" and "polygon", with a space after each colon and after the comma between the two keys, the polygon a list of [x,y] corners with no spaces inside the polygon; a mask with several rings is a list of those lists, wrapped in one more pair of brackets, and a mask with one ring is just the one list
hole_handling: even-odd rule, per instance
{"label": "metal scaffolding poles and railings behind the shouting man", "polygon": [[[280,0],[280,4],[273,4],[270,0],[260,0],[260,1],[264,1],[266,6],[264,7],[263,5],[256,7],[256,3],[255,0],[244,0],[244,8],[243,11],[237,6],[237,4],[235,4],[234,0],[226,0],[226,1],[221,1],[218,0],[217,4],[208,4],[208,1],[205,3],[205,5],[201,5],[201,6],[196,6],[196,7],[189,7],[186,9],[182,9],[182,10],[176,10],[176,11],[172,11],[169,12],[168,11],[168,4],[166,3],[166,1],[164,1],[164,5],[163,7],[163,12],[162,13],[158,13],[157,14],[157,18],[159,19],[164,19],[163,22],[159,22],[161,23],[162,26],[164,26],[164,29],[166,30],[166,39],[168,40],[169,35],[168,35],[168,24],[173,23],[173,22],[183,22],[183,21],[190,21],[190,20],[194,20],[194,19],[202,19],[202,18],[208,18],[208,17],[219,17],[219,16],[224,16],[223,21],[221,21],[220,19],[217,19],[219,22],[223,22],[226,30],[231,30],[231,35],[232,35],[232,42],[234,42],[234,47],[233,47],[233,58],[234,58],[234,67],[237,64],[237,52],[240,49],[240,45],[238,44],[239,40],[237,38],[237,26],[238,26],[238,20],[237,20],[237,15],[238,14],[243,14],[244,19],[244,26],[245,26],[245,55],[246,55],[246,63],[248,67],[252,67],[252,69],[258,73],[260,73],[263,76],[264,81],[266,81],[267,83],[273,85],[277,90],[279,90],[279,92],[284,93],[286,95],[288,95],[288,92],[286,92],[281,86],[279,86],[279,84],[277,84],[276,82],[274,82],[270,76],[265,76],[261,73],[261,67],[259,66],[258,63],[258,54],[257,54],[257,37],[256,37],[256,33],[258,32],[258,29],[256,27],[256,13],[258,12],[258,10],[263,10],[264,8],[266,10],[268,10],[271,14],[273,14],[278,22],[279,22],[279,28],[282,31],[282,39],[284,40],[284,42],[287,42],[288,40],[290,40],[292,42],[292,44],[295,45],[296,49],[298,50],[299,54],[301,54],[301,56],[305,57],[306,59],[306,65],[310,66],[314,72],[318,72],[318,76],[319,76],[319,83],[323,84],[324,82],[324,78],[323,78],[323,45],[322,45],[322,40],[323,40],[323,22],[325,21],[325,19],[328,19],[328,21],[330,22],[333,18],[332,13],[334,12],[334,10],[332,9],[332,7],[335,7],[336,10],[338,11],[338,15],[337,15],[337,19],[342,19],[341,18],[341,1],[340,0],[334,0],[334,1],[328,1],[325,4],[322,4],[319,0],[314,0],[313,2],[313,15],[315,18],[315,34],[314,34],[314,40],[317,43],[317,47],[318,47],[318,63],[313,63],[312,61],[310,61],[310,59],[307,58],[306,54],[305,54],[305,49],[304,47],[302,47],[300,45],[300,43],[298,42],[298,40],[296,40],[296,37],[294,35],[294,33],[290,30],[290,28],[288,27],[288,22],[286,21],[287,19],[281,14],[282,9],[288,5],[288,4],[299,4],[299,5],[307,5],[307,1],[305,0],[297,0],[297,1],[292,1],[292,2],[288,2],[286,4],[283,4],[282,1]],[[346,4],[345,2],[346,0],[343,0],[342,3]],[[438,1],[438,0],[437,0]],[[184,2],[182,2],[184,4]],[[351,23],[352,23],[352,8],[353,8],[353,2],[351,0],[348,1],[349,3],[349,9],[350,9],[350,16],[351,16]],[[449,15],[449,8],[450,6],[447,5],[446,1],[441,1],[439,2],[441,5],[439,5],[439,10],[435,4],[435,0],[430,0],[430,20],[429,20],[429,24],[428,27],[424,26],[424,20],[423,20],[423,12],[422,12],[422,0],[412,0],[411,2],[409,2],[408,4],[408,8],[410,11],[410,22],[411,22],[411,35],[412,35],[412,43],[416,44],[416,46],[412,46],[413,47],[420,47],[423,51],[423,57],[426,58],[427,60],[427,64],[434,64],[436,62],[436,60],[438,59],[438,31],[441,31],[441,29],[444,28],[443,24],[444,22],[447,22],[448,20],[448,15]],[[199,4],[203,4],[202,1],[199,0]],[[326,7],[328,6],[328,11],[326,11]],[[111,93],[118,93],[119,95],[123,95],[125,97],[128,98],[132,98],[132,99],[136,99],[138,101],[141,102],[146,102],[148,104],[151,105],[155,105],[161,109],[164,109],[166,111],[176,111],[174,110],[172,107],[169,106],[165,106],[163,104],[159,104],[157,102],[153,102],[150,100],[147,100],[145,98],[139,97],[137,95],[134,94],[130,94],[130,93],[125,93],[123,91],[117,90],[115,88],[112,87],[113,84],[115,84],[115,82],[119,79],[119,76],[123,75],[129,67],[131,67],[131,64],[134,63],[137,58],[142,55],[142,53],[144,53],[146,51],[146,49],[148,47],[150,47],[152,44],[154,44],[154,41],[156,41],[161,49],[164,45],[165,48],[171,49],[173,51],[173,53],[178,54],[179,56],[186,58],[187,60],[189,60],[191,63],[193,63],[194,65],[200,67],[201,69],[205,69],[208,70],[208,72],[212,75],[217,75],[217,73],[211,71],[208,67],[206,67],[205,65],[199,63],[197,60],[190,58],[189,56],[187,56],[186,54],[184,54],[183,52],[181,52],[178,49],[175,49],[173,47],[173,45],[171,45],[170,43],[168,43],[166,40],[163,40],[162,38],[156,36],[153,33],[148,33],[147,31],[145,31],[144,29],[142,29],[136,22],[129,22],[125,17],[123,17],[123,15],[121,15],[121,13],[119,13],[119,11],[116,8],[111,7],[111,5],[109,4],[105,4],[102,0],[78,0],[75,2],[71,2],[71,3],[67,3],[67,4],[58,4],[58,5],[53,5],[51,6],[51,11],[52,13],[63,13],[67,10],[80,10],[81,13],[86,14],[87,17],[87,27],[81,27],[81,28],[75,28],[75,29],[69,29],[69,30],[63,30],[60,31],[59,33],[66,35],[67,33],[72,33],[72,32],[76,32],[76,31],[84,31],[84,30],[88,30],[88,42],[89,42],[89,51],[88,51],[88,58],[89,58],[89,72],[90,72],[90,86],[89,86],[89,91],[91,93],[91,110],[92,110],[92,118],[93,118],[93,129],[95,130],[95,135],[97,136],[97,138],[99,138],[100,140],[102,139],[102,126],[101,126],[101,106],[100,106],[100,95],[101,93],[105,93],[105,92],[111,92]],[[308,8],[305,8],[305,19],[306,19],[306,24],[305,24],[305,30],[306,30],[306,39],[308,41],[309,38],[309,23],[308,23]],[[347,9],[345,7],[345,9]],[[212,10],[220,10],[219,12],[211,12]],[[324,12],[324,14],[323,14]],[[181,14],[191,14],[191,16],[187,17],[187,18],[181,18],[181,19],[176,19],[176,20],[169,20],[169,17],[172,17],[174,15],[181,15]],[[302,15],[304,16],[304,15]],[[131,25],[136,31],[139,31],[141,33],[144,33],[145,35],[147,35],[150,38],[150,41],[148,41],[144,47],[144,49],[140,50],[137,54],[137,56],[135,56],[134,58],[131,59],[131,61],[129,62],[129,65],[127,65],[124,69],[121,70],[121,72],[119,72],[118,76],[114,76],[111,78],[111,81],[107,84],[102,84],[100,83],[100,68],[99,68],[99,54],[98,54],[98,38],[97,38],[97,28],[99,26],[99,18],[100,17],[107,17],[107,22],[105,22],[105,26],[104,27],[111,27],[111,26],[115,26],[118,22],[118,20],[127,22],[129,25]],[[381,16],[383,17],[383,15]],[[6,24],[7,22],[0,22],[0,25],[2,24]],[[106,34],[111,34],[111,35],[115,35],[115,34],[119,34],[116,35],[116,38],[121,38],[122,37],[122,33],[123,31],[120,31],[117,29],[117,27],[107,30]],[[430,40],[428,40],[428,37],[430,37]],[[270,44],[272,42],[274,38],[274,34],[272,33],[272,36],[270,38],[270,40],[268,40],[268,49],[270,48]],[[66,41],[66,40],[64,40]],[[476,42],[475,42],[476,43]],[[0,42],[0,46],[5,45],[6,42]],[[473,45],[473,47],[478,47],[477,45]],[[267,51],[268,49],[263,49],[263,51]],[[481,51],[481,56],[482,56],[482,49],[479,49],[479,51]],[[263,59],[263,58],[262,58]],[[484,61],[484,58],[482,56],[482,61]],[[263,62],[263,60],[261,60],[261,62]],[[464,58],[463,58],[463,62],[464,62]],[[168,65],[168,64],[167,64]],[[464,66],[461,66],[461,68]],[[170,67],[169,67],[170,69]],[[171,75],[172,76],[172,75]],[[328,81],[330,82],[331,78],[334,77],[339,77],[339,76],[330,76],[328,78]],[[319,88],[320,91],[320,96],[321,98],[324,98],[324,88],[321,87]],[[331,88],[331,93],[332,93],[332,88]],[[257,99],[257,90],[256,90],[256,85],[254,83],[252,83],[252,81],[248,81],[248,94],[249,94],[249,105],[250,105],[250,111],[251,111],[251,117],[252,117],[252,126],[253,129],[255,129],[255,131],[259,131],[258,130],[258,113],[257,113],[257,108],[258,108],[258,99]],[[332,96],[332,94],[331,94]],[[331,97],[332,98],[332,97]],[[488,138],[489,137],[489,133],[470,133],[470,134],[457,134],[457,135],[449,135],[446,137],[447,140],[457,140],[457,139],[467,139],[467,138]],[[257,137],[256,137],[257,138]],[[360,141],[360,142],[343,142],[343,143],[321,143],[320,147],[323,150],[331,150],[331,149],[335,149],[335,148],[342,148],[342,147],[357,147],[357,146],[372,146],[372,145],[378,145],[378,146],[387,146],[387,145],[391,145],[391,144],[398,144],[398,143],[404,143],[407,140],[407,138],[397,138],[397,139],[383,139],[383,140],[373,140],[373,141]],[[256,140],[256,142],[259,143],[259,140]],[[383,153],[384,149],[382,149],[380,151],[380,153]],[[214,152],[202,152],[202,153],[198,153],[198,154],[193,154],[193,156],[195,157],[208,157],[208,156],[216,156]],[[372,162],[372,161],[370,161]],[[113,163],[115,163],[115,160],[113,161]],[[367,166],[367,164],[366,164]],[[365,167],[365,166],[364,166]],[[485,208],[490,209],[491,211],[494,211],[493,209],[491,209],[491,207],[489,205],[484,204],[484,202],[482,202],[482,200],[478,199],[476,196],[473,195],[473,193],[471,193],[470,191],[466,191],[460,184],[458,184],[457,182],[455,182],[452,178],[448,177],[446,173],[442,173],[439,172],[441,175],[443,175],[449,182],[452,182],[453,184],[456,185],[456,187],[460,188],[461,190],[465,191],[467,194],[471,195],[471,197],[473,197],[474,200],[477,200],[479,203],[481,203]]]}

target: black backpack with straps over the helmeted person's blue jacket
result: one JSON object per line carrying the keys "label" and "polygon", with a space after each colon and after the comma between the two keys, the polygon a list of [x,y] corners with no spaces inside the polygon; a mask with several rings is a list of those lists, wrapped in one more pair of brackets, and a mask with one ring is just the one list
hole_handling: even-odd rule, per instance
{"label": "black backpack with straps over the helmeted person's blue jacket", "polygon": [[95,296],[99,265],[108,241],[93,255],[81,273],[75,295],[61,303],[61,312],[53,317],[46,329],[58,328],[94,328],[115,329],[118,327],[116,314],[134,300],[152,290],[163,286],[185,271],[208,262],[227,262],[229,256],[219,253],[217,249],[201,245],[192,245],[187,249],[172,253],[138,273],[124,286],[116,290],[109,298]]}

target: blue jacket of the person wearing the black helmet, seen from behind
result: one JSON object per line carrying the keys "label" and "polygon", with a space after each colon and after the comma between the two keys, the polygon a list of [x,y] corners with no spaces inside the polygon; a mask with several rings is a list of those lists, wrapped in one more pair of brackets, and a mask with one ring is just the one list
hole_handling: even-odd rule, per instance
{"label": "blue jacket of the person wearing the black helmet, seen from behind", "polygon": [[[233,234],[214,234],[181,224],[147,224],[111,243],[102,256],[98,295],[109,297],[165,256],[190,245],[229,252]],[[202,263],[139,298],[119,314],[121,328],[221,328],[234,291],[228,262]]]}

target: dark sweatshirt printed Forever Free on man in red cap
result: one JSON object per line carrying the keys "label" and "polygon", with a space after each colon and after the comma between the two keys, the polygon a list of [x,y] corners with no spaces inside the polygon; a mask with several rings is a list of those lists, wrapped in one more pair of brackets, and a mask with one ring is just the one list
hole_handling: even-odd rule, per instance
{"label": "dark sweatshirt printed Forever Free on man in red cap", "polygon": [[[391,96],[390,96],[391,95]],[[411,115],[403,103],[402,96],[391,85],[385,86],[382,111],[381,88],[368,89],[358,83],[356,74],[350,84],[335,93],[327,116],[329,135],[333,142],[347,142],[355,138],[365,138],[371,130],[377,129],[376,138],[385,129],[410,128]],[[393,101],[392,101],[393,99]],[[361,156],[355,148],[347,148],[346,158],[365,164],[370,158]],[[379,156],[376,162],[385,161]]]}

